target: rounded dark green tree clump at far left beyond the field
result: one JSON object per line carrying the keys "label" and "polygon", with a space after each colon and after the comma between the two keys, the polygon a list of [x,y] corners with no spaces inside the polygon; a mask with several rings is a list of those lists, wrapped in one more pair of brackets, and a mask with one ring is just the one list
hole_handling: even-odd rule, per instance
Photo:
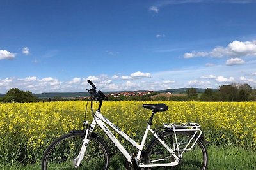
{"label": "rounded dark green tree clump at far left beyond the field", "polygon": [[32,102],[37,101],[37,97],[33,96],[33,94],[29,91],[21,91],[18,88],[12,88],[10,89],[6,95],[3,97],[4,102]]}

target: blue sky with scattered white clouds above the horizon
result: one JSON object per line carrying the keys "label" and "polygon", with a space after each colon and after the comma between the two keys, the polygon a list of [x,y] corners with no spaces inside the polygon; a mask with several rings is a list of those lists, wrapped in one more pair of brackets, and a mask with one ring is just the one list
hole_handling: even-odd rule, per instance
{"label": "blue sky with scattered white clouds above the horizon", "polygon": [[0,93],[256,87],[256,1],[0,0]]}

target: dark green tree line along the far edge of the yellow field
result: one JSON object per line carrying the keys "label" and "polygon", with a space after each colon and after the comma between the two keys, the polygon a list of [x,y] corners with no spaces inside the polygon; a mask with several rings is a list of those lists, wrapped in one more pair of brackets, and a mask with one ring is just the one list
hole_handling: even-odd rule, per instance
{"label": "dark green tree line along the far edge of the yellow field", "polygon": [[[116,100],[134,100],[134,101],[150,101],[150,96],[157,94],[154,92],[150,95],[145,96],[120,96],[114,98],[109,96],[110,101]],[[159,94],[159,93],[158,93]],[[38,99],[29,91],[22,91],[18,88],[10,89],[4,97],[0,97],[0,102],[4,103],[24,103],[24,102],[35,102],[35,101],[63,101],[61,97],[54,97],[54,99]],[[186,95],[181,96],[157,96],[154,98],[156,101],[256,101],[256,90],[252,89],[247,83],[238,84],[233,83],[231,85],[222,85],[218,90],[212,90],[210,88],[205,89],[205,92],[198,94],[195,88],[189,88],[186,91]]]}

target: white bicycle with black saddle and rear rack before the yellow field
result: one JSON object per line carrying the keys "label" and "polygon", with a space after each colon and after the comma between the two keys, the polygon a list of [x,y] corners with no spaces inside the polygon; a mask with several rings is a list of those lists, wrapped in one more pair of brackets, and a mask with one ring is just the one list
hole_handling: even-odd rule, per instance
{"label": "white bicycle with black saddle and rear rack before the yellow field", "polygon": [[[168,110],[168,106],[163,103],[143,104],[144,108],[152,110],[152,115],[147,122],[145,134],[139,145],[100,113],[102,103],[104,100],[108,100],[108,97],[101,91],[97,92],[92,81],[88,80],[88,83],[92,85],[92,89],[88,90],[91,94],[92,123],[89,124],[84,120],[84,130],[73,130],[56,138],[45,150],[42,158],[42,170],[108,169],[111,153],[106,141],[99,134],[93,132],[96,125],[124,155],[126,169],[207,169],[207,150],[199,124],[163,124],[163,127],[158,129],[161,132],[155,132],[150,128],[154,114]],[[93,111],[93,101],[99,102],[99,107],[95,112]],[[138,150],[138,153],[127,152],[109,127],[129,141]],[[151,132],[153,137],[144,150],[148,132]]]}

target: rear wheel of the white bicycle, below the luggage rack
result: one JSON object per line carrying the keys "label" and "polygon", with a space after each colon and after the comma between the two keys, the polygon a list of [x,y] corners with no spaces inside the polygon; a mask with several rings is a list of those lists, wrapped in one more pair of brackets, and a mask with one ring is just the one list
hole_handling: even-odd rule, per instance
{"label": "rear wheel of the white bicycle, below the luggage rack", "polygon": [[[179,148],[182,148],[186,145],[186,139],[193,138],[193,134],[189,133],[188,131],[176,131],[177,141],[180,144]],[[159,135],[159,138],[161,138],[164,143],[166,143],[172,150],[177,153],[177,150],[175,149],[175,135],[173,131],[164,131]],[[194,137],[192,139],[192,142],[195,141]],[[179,142],[180,141],[180,142]],[[178,155],[178,154],[176,154]],[[154,162],[156,159],[164,159],[164,162]],[[164,148],[164,146],[156,139],[153,138],[150,144],[147,147],[147,151],[145,154],[144,162],[145,164],[160,164],[160,163],[170,163],[173,162],[174,157],[170,152]],[[177,166],[171,166],[171,167],[149,167],[148,169],[200,169],[205,170],[207,169],[207,162],[208,162],[208,155],[207,150],[204,145],[204,142],[201,139],[198,139],[196,141],[195,146],[189,150],[183,153],[182,158],[180,158],[179,165]],[[147,168],[146,168],[147,169]]]}

